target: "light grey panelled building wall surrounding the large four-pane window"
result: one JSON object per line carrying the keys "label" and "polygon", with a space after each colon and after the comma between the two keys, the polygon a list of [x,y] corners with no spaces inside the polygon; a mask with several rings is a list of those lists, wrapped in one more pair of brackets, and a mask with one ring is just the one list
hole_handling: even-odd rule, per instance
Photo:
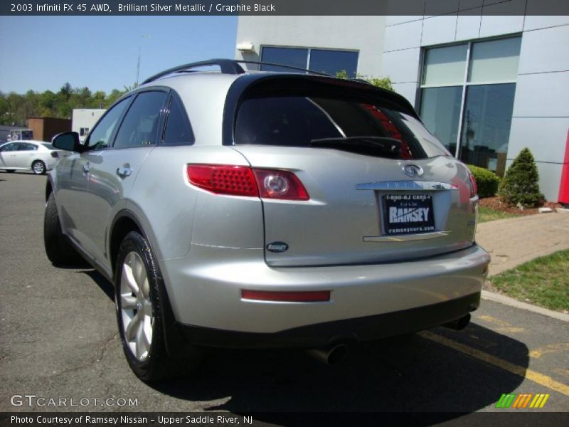
{"label": "light grey panelled building wall surrounding the large four-pane window", "polygon": [[418,108],[423,48],[521,33],[506,167],[528,147],[536,158],[541,191],[548,200],[557,201],[569,130],[569,16],[523,16],[526,6],[533,7],[536,0],[485,6],[485,10],[507,7],[504,11],[513,16],[482,16],[482,7],[469,15],[456,13],[459,4],[482,6],[482,1],[491,3],[449,1],[447,7],[456,8],[454,14],[388,16],[383,74]]}

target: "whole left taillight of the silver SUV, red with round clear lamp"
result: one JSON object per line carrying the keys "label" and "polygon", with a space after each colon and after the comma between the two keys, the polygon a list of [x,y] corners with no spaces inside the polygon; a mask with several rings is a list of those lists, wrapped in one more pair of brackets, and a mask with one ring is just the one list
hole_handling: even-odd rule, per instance
{"label": "whole left taillight of the silver SUV, red with round clear lamp", "polygon": [[216,194],[260,196],[263,199],[309,200],[295,174],[225,164],[188,164],[191,184]]}

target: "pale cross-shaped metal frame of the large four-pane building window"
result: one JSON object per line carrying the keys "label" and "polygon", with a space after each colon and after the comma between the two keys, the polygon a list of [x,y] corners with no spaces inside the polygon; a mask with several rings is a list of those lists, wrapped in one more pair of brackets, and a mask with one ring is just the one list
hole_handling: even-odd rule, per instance
{"label": "pale cross-shaped metal frame of the large four-pane building window", "polygon": [[[415,108],[420,111],[420,106],[421,106],[421,102],[422,102],[422,90],[423,89],[430,89],[430,88],[456,88],[456,87],[462,87],[462,97],[460,100],[460,111],[459,111],[459,118],[458,118],[458,130],[457,130],[457,141],[456,141],[456,149],[454,152],[454,157],[459,159],[460,158],[460,154],[462,152],[462,144],[461,144],[461,139],[462,139],[462,128],[463,128],[463,122],[464,122],[464,107],[466,106],[466,98],[467,98],[467,89],[469,86],[481,86],[481,85],[501,85],[504,83],[517,83],[517,79],[514,80],[492,80],[492,81],[487,81],[487,82],[469,82],[468,81],[468,75],[469,75],[469,70],[470,70],[470,63],[472,60],[472,45],[477,44],[477,43],[484,43],[485,41],[496,41],[496,40],[504,40],[504,39],[508,39],[508,38],[522,38],[522,34],[521,33],[513,33],[513,34],[508,34],[507,36],[499,36],[499,37],[489,37],[489,38],[482,38],[482,39],[475,39],[475,40],[470,40],[470,41],[465,41],[465,42],[461,42],[461,43],[444,43],[444,44],[440,44],[440,45],[436,45],[436,46],[427,46],[425,48],[421,48],[421,57],[420,57],[420,85],[419,85],[419,95],[418,97],[416,97],[415,99]],[[520,41],[521,43],[521,41]],[[447,84],[447,85],[423,85],[422,81],[423,78],[425,76],[425,65],[426,65],[426,57],[427,57],[427,51],[429,49],[432,48],[445,48],[445,47],[449,47],[449,46],[459,46],[459,45],[467,45],[467,57],[465,59],[465,64],[464,64],[464,78],[462,80],[462,83],[459,84]]]}

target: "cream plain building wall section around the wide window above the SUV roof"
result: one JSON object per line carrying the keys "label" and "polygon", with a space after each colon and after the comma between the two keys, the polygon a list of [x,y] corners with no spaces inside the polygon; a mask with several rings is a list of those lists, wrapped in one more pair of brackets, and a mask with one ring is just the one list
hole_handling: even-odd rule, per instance
{"label": "cream plain building wall section around the wide window above the SUV roof", "polygon": [[260,60],[261,46],[349,49],[359,51],[358,73],[383,77],[384,28],[385,16],[240,16],[237,44],[253,43],[255,52],[235,50],[235,58]]}

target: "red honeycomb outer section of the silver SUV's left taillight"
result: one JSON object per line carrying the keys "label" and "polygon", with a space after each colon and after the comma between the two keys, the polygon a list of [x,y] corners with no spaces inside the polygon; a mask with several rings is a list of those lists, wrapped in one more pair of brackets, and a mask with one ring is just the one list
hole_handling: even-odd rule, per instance
{"label": "red honeycomb outer section of the silver SUV's left taillight", "polygon": [[213,193],[259,196],[250,167],[224,164],[188,164],[190,182]]}

